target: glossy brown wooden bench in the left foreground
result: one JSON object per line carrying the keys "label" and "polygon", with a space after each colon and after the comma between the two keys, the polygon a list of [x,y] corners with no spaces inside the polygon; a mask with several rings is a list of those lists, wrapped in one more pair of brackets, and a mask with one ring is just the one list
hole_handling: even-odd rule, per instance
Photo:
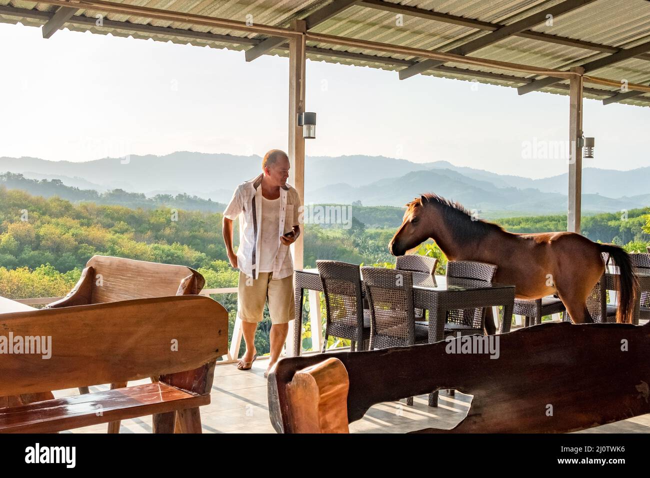
{"label": "glossy brown wooden bench in the left foreground", "polygon": [[[0,432],[153,415],[154,432],[199,433],[199,407],[210,403],[216,358],[227,350],[228,314],[208,297],[157,297],[3,313],[0,331],[51,337],[50,358],[1,357]],[[59,399],[43,392],[148,377],[158,380]]]}

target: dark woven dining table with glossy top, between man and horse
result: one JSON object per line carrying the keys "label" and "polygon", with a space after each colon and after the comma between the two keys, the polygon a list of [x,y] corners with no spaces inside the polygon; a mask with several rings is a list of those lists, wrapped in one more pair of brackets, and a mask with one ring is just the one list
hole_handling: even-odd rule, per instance
{"label": "dark woven dining table with glossy top, between man and horse", "polygon": [[[302,351],[302,298],[305,290],[322,291],[318,269],[294,272],[296,319],[293,328],[293,355]],[[510,332],[515,286],[482,280],[448,278],[413,272],[413,306],[429,311],[429,342],[445,338],[445,317],[448,310],[504,306],[500,332]],[[316,301],[318,302],[318,301]],[[314,311],[311,311],[314,313]]]}

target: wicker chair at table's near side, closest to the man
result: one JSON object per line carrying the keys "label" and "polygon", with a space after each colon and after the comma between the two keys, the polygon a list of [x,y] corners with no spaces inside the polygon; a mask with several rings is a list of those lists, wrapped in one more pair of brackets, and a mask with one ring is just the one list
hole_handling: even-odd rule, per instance
{"label": "wicker chair at table's near side, closest to the man", "polygon": [[361,350],[370,341],[370,311],[363,310],[359,266],[339,261],[316,261],[325,295],[327,320],[323,349],[329,336],[350,340],[350,351],[357,343]]}

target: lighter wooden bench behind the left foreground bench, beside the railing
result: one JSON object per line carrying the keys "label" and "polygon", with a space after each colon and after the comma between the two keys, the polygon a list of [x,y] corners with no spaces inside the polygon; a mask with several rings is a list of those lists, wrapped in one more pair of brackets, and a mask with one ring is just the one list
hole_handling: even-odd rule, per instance
{"label": "lighter wooden bench behind the left foreground bench, beside the railing", "polygon": [[[203,285],[205,279],[191,267],[112,256],[93,256],[86,263],[81,278],[72,291],[63,299],[47,305],[47,308],[193,295],[200,293]],[[111,384],[110,388],[125,386],[127,382],[119,382]],[[90,393],[90,390],[88,386],[81,386],[79,392]],[[109,433],[119,433],[120,422],[109,423],[108,429]]]}

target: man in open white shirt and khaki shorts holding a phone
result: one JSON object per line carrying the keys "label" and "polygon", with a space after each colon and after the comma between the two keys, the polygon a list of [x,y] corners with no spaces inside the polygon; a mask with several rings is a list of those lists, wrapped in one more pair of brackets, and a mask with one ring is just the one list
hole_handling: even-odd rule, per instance
{"label": "man in open white shirt and khaki shorts holding a phone", "polygon": [[[262,174],[240,184],[224,211],[224,242],[230,264],[239,269],[237,317],[242,321],[246,353],[237,364],[249,370],[255,358],[255,330],[268,300],[271,316],[270,360],[265,377],[278,362],[294,318],[293,262],[289,245],[300,235],[300,197],[287,184],[289,157],[270,150]],[[233,251],[233,220],[239,221],[239,249]]]}

